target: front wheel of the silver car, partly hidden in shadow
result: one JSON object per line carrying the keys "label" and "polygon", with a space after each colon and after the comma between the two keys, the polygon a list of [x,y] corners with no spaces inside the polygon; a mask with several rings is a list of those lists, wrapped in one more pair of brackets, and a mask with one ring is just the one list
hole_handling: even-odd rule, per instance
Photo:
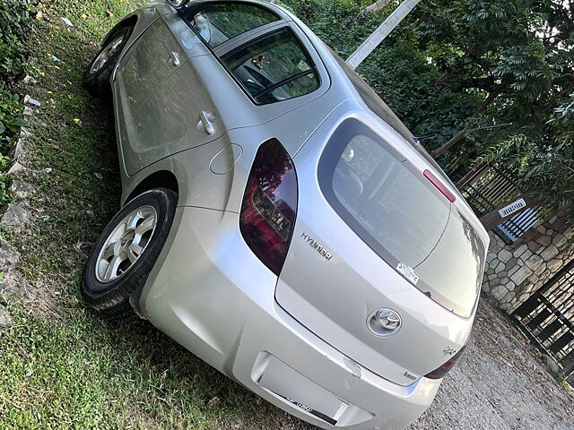
{"label": "front wheel of the silver car, partly hidden in shadow", "polygon": [[90,65],[83,73],[83,86],[93,97],[99,99],[109,99],[111,96],[111,85],[109,79],[117,64],[117,58],[126,47],[133,25],[120,27],[109,37],[106,45],[101,47],[97,56],[94,56]]}

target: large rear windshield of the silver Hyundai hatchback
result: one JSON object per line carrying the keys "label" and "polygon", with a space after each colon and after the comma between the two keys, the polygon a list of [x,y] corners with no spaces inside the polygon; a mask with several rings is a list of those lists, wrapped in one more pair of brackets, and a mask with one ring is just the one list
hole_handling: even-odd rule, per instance
{"label": "large rear windshield of the silver Hyundai hatchback", "polygon": [[440,305],[472,314],[483,242],[412,163],[347,119],[327,143],[318,175],[329,204],[374,252]]}

